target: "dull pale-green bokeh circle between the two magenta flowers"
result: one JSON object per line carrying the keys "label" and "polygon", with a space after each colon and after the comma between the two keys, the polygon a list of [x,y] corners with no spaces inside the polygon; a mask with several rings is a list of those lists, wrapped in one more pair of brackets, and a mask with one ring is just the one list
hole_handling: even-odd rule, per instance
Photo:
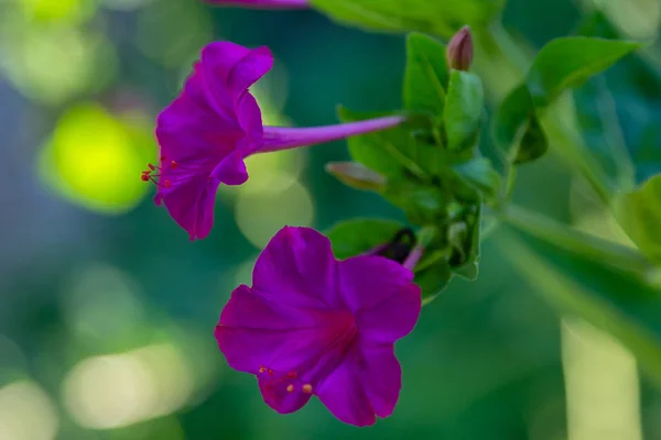
{"label": "dull pale-green bokeh circle between the two magenta flowers", "polygon": [[[273,173],[272,178],[289,182],[290,176]],[[313,201],[310,191],[299,182],[285,186],[284,190],[264,188],[258,193],[242,189],[235,206],[236,220],[240,231],[256,246],[264,248],[283,226],[312,224]]]}

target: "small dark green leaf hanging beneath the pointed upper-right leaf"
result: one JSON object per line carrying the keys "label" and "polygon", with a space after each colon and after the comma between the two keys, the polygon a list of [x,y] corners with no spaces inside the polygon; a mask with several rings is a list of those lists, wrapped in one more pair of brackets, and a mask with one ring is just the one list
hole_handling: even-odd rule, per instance
{"label": "small dark green leaf hanging beneath the pointed upper-right leaf", "polygon": [[510,91],[496,111],[491,136],[506,166],[535,160],[549,148],[524,84]]}

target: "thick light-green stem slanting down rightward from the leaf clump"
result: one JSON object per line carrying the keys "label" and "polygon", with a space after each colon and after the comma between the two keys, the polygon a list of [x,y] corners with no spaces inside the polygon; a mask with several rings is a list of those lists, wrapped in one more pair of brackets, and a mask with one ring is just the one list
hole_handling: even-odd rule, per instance
{"label": "thick light-green stem slanting down rightward from the leaf clump", "polygon": [[611,267],[642,276],[654,270],[654,266],[635,249],[581,232],[524,208],[511,205],[497,216],[502,222],[539,240]]}

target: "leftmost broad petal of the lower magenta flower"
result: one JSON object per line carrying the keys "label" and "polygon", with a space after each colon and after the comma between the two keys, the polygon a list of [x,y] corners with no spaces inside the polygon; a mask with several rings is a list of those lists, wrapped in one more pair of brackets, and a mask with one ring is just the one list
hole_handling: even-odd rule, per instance
{"label": "leftmost broad petal of the lower magenta flower", "polygon": [[216,339],[227,363],[257,374],[261,366],[289,372],[308,363],[332,334],[334,316],[264,299],[246,285],[223,309]]}

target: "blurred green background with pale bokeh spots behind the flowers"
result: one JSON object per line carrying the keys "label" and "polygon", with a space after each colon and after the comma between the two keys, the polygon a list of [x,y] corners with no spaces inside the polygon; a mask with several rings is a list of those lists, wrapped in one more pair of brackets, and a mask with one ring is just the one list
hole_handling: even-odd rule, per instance
{"label": "blurred green background with pale bokeh spots behind the flowers", "polygon": [[[658,1],[599,3],[626,34],[657,34]],[[539,47],[570,33],[584,7],[510,0],[503,22]],[[403,36],[313,11],[0,1],[1,440],[661,439],[661,394],[635,359],[559,316],[518,277],[507,242],[491,239],[499,231],[483,245],[479,280],[453,280],[399,343],[404,385],[391,418],[358,429],[316,400],[291,416],[269,409],[213,337],[231,289],[283,224],[403,216],[323,172],[347,158],[336,142],[250,158],[249,183],[219,191],[212,234],[188,242],[140,172],[156,155],[155,116],[214,40],[273,51],[253,90],[269,124],[334,123],[339,103],[401,106]],[[625,138],[652,145],[642,179],[659,169],[659,130],[647,129],[660,98],[638,77],[609,75]],[[521,169],[516,199],[626,242],[585,188],[550,155]]]}

